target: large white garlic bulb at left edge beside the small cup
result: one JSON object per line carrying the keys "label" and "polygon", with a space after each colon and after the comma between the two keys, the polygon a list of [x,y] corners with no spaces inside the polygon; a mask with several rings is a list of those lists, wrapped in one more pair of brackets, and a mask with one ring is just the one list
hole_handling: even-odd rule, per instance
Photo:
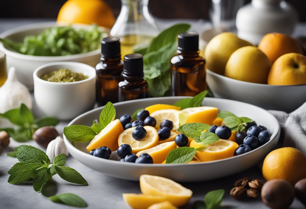
{"label": "large white garlic bulb at left edge beside the small cup", "polygon": [[19,108],[21,103],[32,109],[31,94],[16,78],[16,68],[10,67],[6,82],[0,87],[0,113]]}

